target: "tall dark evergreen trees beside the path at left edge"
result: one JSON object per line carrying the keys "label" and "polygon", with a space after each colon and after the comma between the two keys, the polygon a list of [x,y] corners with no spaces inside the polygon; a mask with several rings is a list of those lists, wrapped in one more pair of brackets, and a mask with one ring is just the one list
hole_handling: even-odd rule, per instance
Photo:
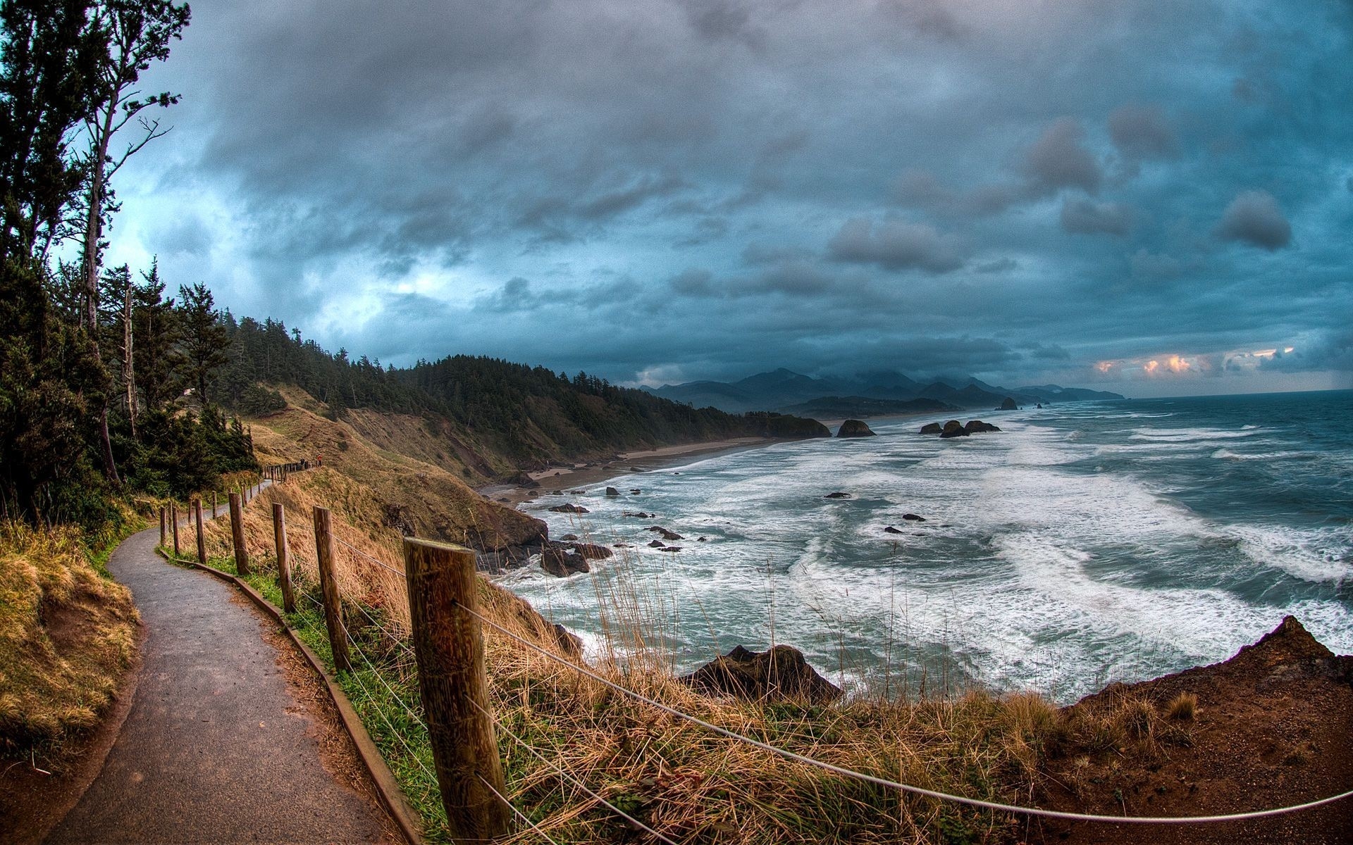
{"label": "tall dark evergreen trees beside the path at left edge", "polygon": [[0,515],[96,525],[129,491],[185,495],[254,468],[210,392],[211,292],[104,266],[114,180],[179,101],[141,74],[189,22],[168,0],[0,3]]}

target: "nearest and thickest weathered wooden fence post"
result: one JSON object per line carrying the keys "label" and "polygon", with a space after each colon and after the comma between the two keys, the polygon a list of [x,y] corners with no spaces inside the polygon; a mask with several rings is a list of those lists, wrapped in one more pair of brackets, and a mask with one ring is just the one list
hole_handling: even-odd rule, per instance
{"label": "nearest and thickest weathered wooden fence post", "polygon": [[[507,833],[502,760],[488,713],[484,634],[478,608],[475,553],[464,546],[405,538],[405,579],[423,718],[437,786],[453,840]],[[483,781],[480,781],[480,777]]]}

